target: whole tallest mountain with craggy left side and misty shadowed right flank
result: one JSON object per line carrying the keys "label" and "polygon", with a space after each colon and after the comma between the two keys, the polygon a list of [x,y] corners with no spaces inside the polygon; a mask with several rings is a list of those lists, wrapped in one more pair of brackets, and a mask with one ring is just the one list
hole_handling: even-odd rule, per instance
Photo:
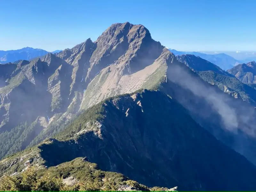
{"label": "whole tallest mountain with craggy left side and misty shadowed right flank", "polygon": [[142,25],[113,24],[95,42],[87,39],[14,68],[10,75],[0,74],[0,157],[62,132],[83,110],[108,97],[155,89],[256,163],[254,107],[205,82]]}

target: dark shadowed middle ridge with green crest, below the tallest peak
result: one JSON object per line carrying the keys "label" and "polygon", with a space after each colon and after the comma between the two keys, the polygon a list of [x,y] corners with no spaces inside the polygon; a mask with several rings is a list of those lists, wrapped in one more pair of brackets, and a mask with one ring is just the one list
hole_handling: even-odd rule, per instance
{"label": "dark shadowed middle ridge with green crest, below the tallest peak", "polygon": [[[218,191],[256,188],[256,167],[214,138],[185,108],[160,91],[145,90],[105,100],[81,114],[56,139],[45,140],[37,149],[19,156],[29,160],[31,153],[36,158],[30,164],[39,167],[87,156],[100,169],[120,172],[148,187]],[[8,174],[19,172],[21,168],[10,165],[19,156],[0,162],[0,170],[6,166]],[[15,164],[17,167],[20,162]]]}

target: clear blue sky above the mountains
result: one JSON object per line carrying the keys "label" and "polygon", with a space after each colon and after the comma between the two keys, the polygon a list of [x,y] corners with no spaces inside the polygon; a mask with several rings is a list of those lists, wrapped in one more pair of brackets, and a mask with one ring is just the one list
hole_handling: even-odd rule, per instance
{"label": "clear blue sky above the mountains", "polygon": [[256,0],[0,0],[0,50],[71,48],[112,23],[182,51],[256,51]]}

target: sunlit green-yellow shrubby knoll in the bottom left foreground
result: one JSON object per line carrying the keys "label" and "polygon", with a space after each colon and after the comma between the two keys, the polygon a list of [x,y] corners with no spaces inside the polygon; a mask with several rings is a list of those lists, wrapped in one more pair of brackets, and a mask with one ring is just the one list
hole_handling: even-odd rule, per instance
{"label": "sunlit green-yellow shrubby knoll in the bottom left foreground", "polygon": [[55,167],[28,167],[20,175],[4,175],[0,191],[116,191],[119,188],[149,191],[149,188],[116,172],[105,172],[97,164],[76,158]]}

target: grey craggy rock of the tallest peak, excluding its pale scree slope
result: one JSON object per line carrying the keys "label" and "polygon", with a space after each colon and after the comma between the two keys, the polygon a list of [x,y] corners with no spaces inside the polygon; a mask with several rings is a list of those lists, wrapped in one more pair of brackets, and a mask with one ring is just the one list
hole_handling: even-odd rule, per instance
{"label": "grey craggy rock of the tallest peak, excluding its pale scree slope", "polygon": [[[103,38],[103,36],[108,37]],[[48,53],[42,59],[32,60],[29,64],[15,69],[16,72],[11,77],[5,78],[4,81],[7,82],[7,85],[0,88],[0,94],[2,93],[0,96],[2,100],[0,108],[5,113],[1,124],[2,132],[4,130],[10,131],[10,129],[25,121],[31,124],[38,116],[46,119],[46,122],[52,122],[53,119],[53,122],[58,122],[58,119],[64,122],[68,121],[72,116],[76,116],[84,97],[84,90],[102,68],[117,60],[119,56],[122,56],[121,54],[126,54],[120,57],[118,64],[121,66],[120,63],[123,63],[121,74],[123,72],[129,74],[140,70],[139,66],[145,67],[136,64],[140,62],[140,58],[143,58],[144,54],[150,54],[148,60],[144,61],[148,65],[156,59],[156,56],[160,55],[164,48],[160,46],[159,42],[157,43],[151,39],[149,31],[144,26],[132,25],[128,22],[110,26],[103,32],[103,36],[96,40],[97,46],[96,43],[87,39],[84,43],[78,44],[72,49],[64,50],[57,55]],[[106,41],[106,39],[108,40]],[[144,47],[140,47],[141,44]],[[157,45],[152,50],[154,51],[153,54],[150,52],[151,44]],[[157,52],[156,48],[158,49]],[[127,49],[129,51],[126,51]],[[102,58],[98,56],[98,53]],[[155,56],[155,54],[157,55]],[[154,58],[150,59],[151,57]],[[61,58],[65,58],[65,61],[61,60]],[[113,65],[116,66],[116,64]],[[64,68],[64,65],[67,67]],[[64,83],[66,80],[68,82]],[[25,90],[24,86],[26,87]],[[68,86],[70,86],[70,89],[67,88]],[[140,89],[140,87],[138,88]],[[138,88],[134,87],[132,91],[136,91]],[[32,93],[36,94],[30,94],[30,97],[26,97],[24,94],[29,94],[29,89],[31,89],[29,92],[33,90]],[[129,90],[125,92],[127,91]],[[10,94],[20,94],[20,100],[10,100]],[[113,92],[112,96],[115,94],[117,93]],[[33,97],[35,98],[32,99]],[[106,97],[108,95],[103,95],[101,100]],[[25,107],[25,105],[31,106],[31,100],[35,100],[35,103],[32,104],[34,106],[32,116],[30,115],[30,109]],[[20,102],[24,103],[24,105],[20,105]],[[40,103],[43,106],[40,106]],[[19,110],[15,110],[15,108]],[[17,111],[23,115],[20,116]],[[45,130],[43,127],[41,129]],[[51,130],[48,131],[51,132]],[[48,131],[46,129],[46,132]]]}

